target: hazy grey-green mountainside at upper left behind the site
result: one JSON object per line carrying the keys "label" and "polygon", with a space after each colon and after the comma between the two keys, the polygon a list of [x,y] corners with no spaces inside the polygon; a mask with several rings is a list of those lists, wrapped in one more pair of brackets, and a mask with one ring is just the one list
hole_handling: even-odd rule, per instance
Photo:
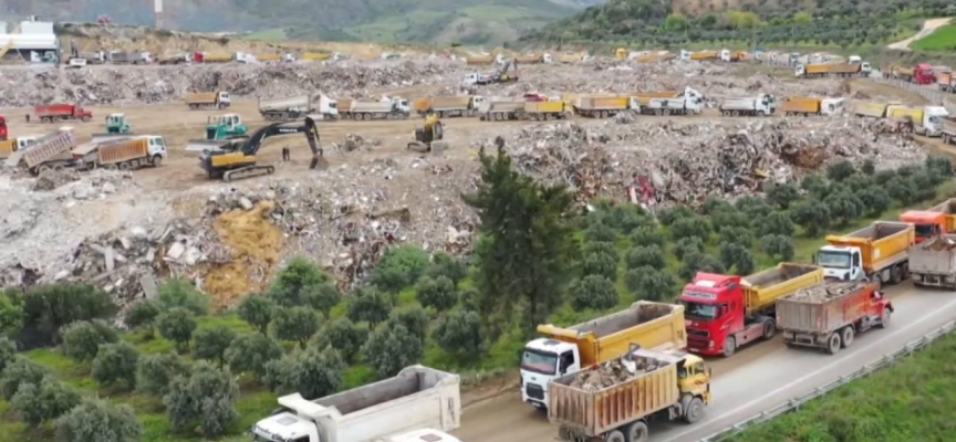
{"label": "hazy grey-green mountainside at upper left behind the site", "polygon": [[[500,43],[602,0],[165,0],[166,28],[263,38]],[[153,1],[0,0],[9,17],[154,23]]]}

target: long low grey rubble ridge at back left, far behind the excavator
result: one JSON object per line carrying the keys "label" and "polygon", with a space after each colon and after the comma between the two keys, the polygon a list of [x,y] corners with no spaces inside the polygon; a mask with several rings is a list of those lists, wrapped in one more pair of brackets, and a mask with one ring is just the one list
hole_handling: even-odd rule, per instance
{"label": "long low grey rubble ridge at back left, far behind the excavator", "polygon": [[[328,63],[328,64],[326,64]],[[222,64],[191,66],[91,66],[84,70],[0,70],[0,106],[51,102],[165,103],[189,92],[228,91],[235,98],[268,98],[322,91],[364,97],[366,90],[460,83],[464,65],[445,60]],[[117,87],[118,85],[118,87]]]}

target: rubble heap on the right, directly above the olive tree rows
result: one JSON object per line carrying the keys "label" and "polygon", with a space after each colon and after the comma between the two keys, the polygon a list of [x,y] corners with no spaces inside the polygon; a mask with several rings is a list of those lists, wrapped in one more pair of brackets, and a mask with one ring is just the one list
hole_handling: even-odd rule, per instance
{"label": "rubble heap on the right, directly above the olive tree rows", "polygon": [[[584,200],[631,193],[642,202],[634,193],[653,186],[657,201],[696,203],[759,191],[765,179],[798,179],[836,158],[873,159],[881,168],[925,158],[908,137],[875,127],[853,118],[558,123],[517,133],[508,150],[521,171],[565,183]],[[477,147],[491,145],[489,138]]]}

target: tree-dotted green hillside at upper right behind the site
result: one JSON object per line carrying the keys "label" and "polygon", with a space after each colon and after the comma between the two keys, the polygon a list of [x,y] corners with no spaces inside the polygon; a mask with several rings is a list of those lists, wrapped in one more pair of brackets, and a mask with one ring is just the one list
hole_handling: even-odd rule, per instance
{"label": "tree-dotted green hillside at upper right behind the site", "polygon": [[609,0],[522,40],[537,43],[749,42],[858,46],[915,33],[921,18],[956,14],[948,0]]}

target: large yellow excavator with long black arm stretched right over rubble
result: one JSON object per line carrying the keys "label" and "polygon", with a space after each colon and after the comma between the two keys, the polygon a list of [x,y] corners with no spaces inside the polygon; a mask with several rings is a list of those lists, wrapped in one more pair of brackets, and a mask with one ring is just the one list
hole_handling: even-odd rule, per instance
{"label": "large yellow excavator with long black arm stretched right over rubble", "polygon": [[266,138],[278,135],[305,134],[305,140],[312,150],[310,169],[325,169],[329,167],[323,157],[320,145],[319,129],[315,126],[321,116],[305,116],[304,124],[272,123],[262,127],[249,137],[229,138],[221,141],[204,140],[201,143],[190,141],[187,151],[200,150],[199,166],[206,171],[210,179],[222,178],[225,181],[233,179],[270,175],[276,172],[271,165],[260,166],[256,154],[262,147]]}

